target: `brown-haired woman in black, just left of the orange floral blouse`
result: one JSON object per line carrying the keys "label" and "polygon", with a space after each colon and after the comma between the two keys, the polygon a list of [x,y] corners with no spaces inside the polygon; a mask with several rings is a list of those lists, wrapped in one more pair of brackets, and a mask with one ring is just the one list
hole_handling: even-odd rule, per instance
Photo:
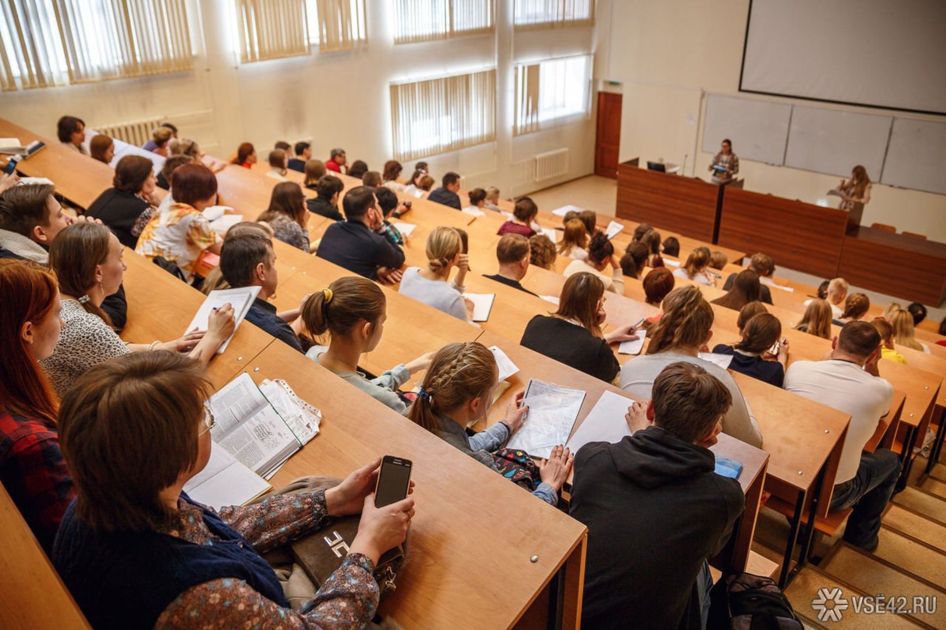
{"label": "brown-haired woman in black, just left of the orange floral blouse", "polygon": [[140,155],[126,155],[115,165],[112,187],[92,202],[85,215],[100,219],[112,228],[122,245],[134,249],[138,236],[161,203],[154,187],[151,161]]}

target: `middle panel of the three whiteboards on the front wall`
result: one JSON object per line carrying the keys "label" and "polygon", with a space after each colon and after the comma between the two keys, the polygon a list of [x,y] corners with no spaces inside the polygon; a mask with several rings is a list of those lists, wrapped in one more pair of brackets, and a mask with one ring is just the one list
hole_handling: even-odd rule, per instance
{"label": "middle panel of the three whiteboards on the front wall", "polygon": [[891,116],[796,106],[785,166],[850,177],[851,168],[864,165],[877,179],[892,123]]}

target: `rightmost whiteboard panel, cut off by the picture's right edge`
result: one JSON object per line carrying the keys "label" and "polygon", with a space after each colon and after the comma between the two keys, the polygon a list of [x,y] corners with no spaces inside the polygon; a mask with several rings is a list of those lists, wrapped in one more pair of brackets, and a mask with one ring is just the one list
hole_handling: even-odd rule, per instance
{"label": "rightmost whiteboard panel, cut off by the picture's right edge", "polygon": [[946,123],[894,118],[881,183],[946,195]]}

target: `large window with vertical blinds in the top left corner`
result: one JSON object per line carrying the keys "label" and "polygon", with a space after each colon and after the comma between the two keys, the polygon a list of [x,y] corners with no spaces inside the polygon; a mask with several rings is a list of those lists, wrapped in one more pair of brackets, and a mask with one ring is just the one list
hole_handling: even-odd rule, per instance
{"label": "large window with vertical blinds in the top left corner", "polygon": [[184,1],[8,0],[0,4],[0,86],[192,70]]}

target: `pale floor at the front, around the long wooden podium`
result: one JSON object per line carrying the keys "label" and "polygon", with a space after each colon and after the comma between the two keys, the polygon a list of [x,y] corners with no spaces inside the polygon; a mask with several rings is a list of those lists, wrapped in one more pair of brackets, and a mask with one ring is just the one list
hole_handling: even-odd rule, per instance
{"label": "pale floor at the front, around the long wooden podium", "polygon": [[[539,190],[529,196],[532,197],[533,201],[538,204],[538,207],[543,210],[554,210],[563,205],[571,204],[613,217],[618,200],[618,182],[617,180],[601,177],[599,175],[587,175],[577,180],[566,182],[565,184],[558,184],[551,188]],[[779,265],[778,260],[776,261],[776,265]],[[788,280],[794,280],[813,287],[817,287],[821,284],[821,281],[824,280],[824,278],[819,278],[810,273],[803,273],[802,271],[795,271],[782,266],[779,266],[778,274]],[[886,306],[891,302],[899,302],[903,306],[906,306],[906,304],[909,303],[909,300],[903,300],[902,298],[896,298],[891,295],[885,295],[884,293],[878,293],[877,291],[863,289],[853,285],[850,290],[852,292],[860,291],[865,293],[867,297],[870,298],[871,304]],[[942,319],[946,317],[946,308],[937,308],[931,305],[926,305],[926,308],[927,318],[934,322],[941,322]]]}

